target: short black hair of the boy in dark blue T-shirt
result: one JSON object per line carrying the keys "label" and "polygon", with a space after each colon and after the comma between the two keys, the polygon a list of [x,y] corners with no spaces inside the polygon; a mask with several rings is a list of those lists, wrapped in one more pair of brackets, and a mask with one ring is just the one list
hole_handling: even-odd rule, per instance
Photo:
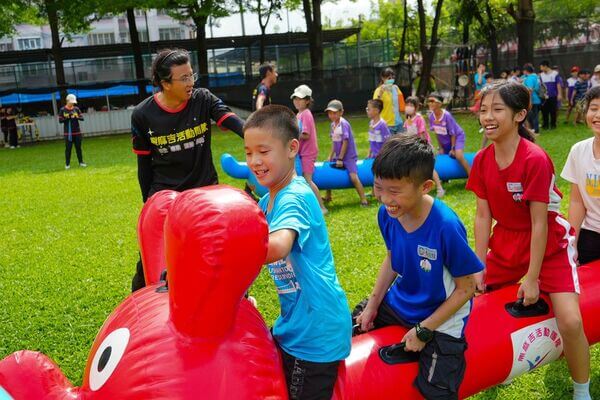
{"label": "short black hair of the boy in dark blue T-shirt", "polygon": [[433,147],[417,135],[388,139],[373,161],[373,176],[381,179],[408,178],[420,185],[433,176]]}

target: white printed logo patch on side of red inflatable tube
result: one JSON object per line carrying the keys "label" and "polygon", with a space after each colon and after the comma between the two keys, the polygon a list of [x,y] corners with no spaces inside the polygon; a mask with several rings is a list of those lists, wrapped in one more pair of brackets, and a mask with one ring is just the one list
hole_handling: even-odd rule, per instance
{"label": "white printed logo patch on side of red inflatable tube", "polygon": [[526,326],[513,332],[510,337],[513,346],[513,363],[504,383],[509,383],[525,372],[548,364],[562,354],[562,338],[558,333],[555,318]]}

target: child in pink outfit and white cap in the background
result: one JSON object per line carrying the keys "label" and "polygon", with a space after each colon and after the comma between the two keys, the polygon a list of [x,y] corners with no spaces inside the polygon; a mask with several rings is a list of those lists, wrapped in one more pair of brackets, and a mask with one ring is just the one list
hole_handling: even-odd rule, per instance
{"label": "child in pink outfit and white cap in the background", "polygon": [[317,144],[317,128],[315,127],[315,119],[310,112],[312,104],[312,90],[306,85],[300,85],[290,96],[294,102],[294,107],[298,110],[296,118],[298,118],[298,127],[300,128],[300,150],[298,156],[302,165],[302,176],[306,179],[306,183],[317,196],[319,206],[323,214],[327,214],[327,208],[323,204],[319,188],[312,180],[315,172],[315,161],[319,155],[319,145]]}

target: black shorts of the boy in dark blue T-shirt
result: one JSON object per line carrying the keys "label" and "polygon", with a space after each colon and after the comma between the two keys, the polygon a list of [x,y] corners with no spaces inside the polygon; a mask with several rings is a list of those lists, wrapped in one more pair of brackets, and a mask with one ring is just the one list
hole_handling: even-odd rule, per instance
{"label": "black shorts of the boy in dark blue T-shirt", "polygon": [[[352,312],[352,324],[364,310],[367,299],[357,304]],[[373,321],[375,329],[390,325],[411,328],[394,310],[381,303]],[[355,332],[356,333],[356,332]],[[354,333],[353,333],[354,334]],[[401,339],[401,338],[399,338]],[[455,338],[441,332],[434,332],[433,339],[425,345],[419,355],[419,373],[414,385],[427,400],[458,399],[458,388],[465,376],[465,338]]]}

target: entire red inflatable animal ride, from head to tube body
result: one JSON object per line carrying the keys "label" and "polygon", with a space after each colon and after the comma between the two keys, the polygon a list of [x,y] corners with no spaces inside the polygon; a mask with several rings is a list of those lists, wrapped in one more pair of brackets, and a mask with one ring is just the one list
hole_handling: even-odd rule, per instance
{"label": "entire red inflatable animal ride, from head to tube body", "polygon": [[[164,227],[164,230],[163,230]],[[46,356],[0,361],[14,399],[286,399],[273,339],[243,294],[265,256],[262,212],[239,190],[216,186],[160,192],[138,224],[146,281],[98,333],[83,385],[72,387]],[[580,305],[590,343],[600,341],[600,262],[579,268]],[[562,342],[549,300],[522,309],[517,286],[479,296],[467,325],[464,398],[556,360]],[[421,399],[417,363],[394,346],[400,327],[357,336],[340,366],[336,399]],[[9,399],[11,397],[8,397]]]}

